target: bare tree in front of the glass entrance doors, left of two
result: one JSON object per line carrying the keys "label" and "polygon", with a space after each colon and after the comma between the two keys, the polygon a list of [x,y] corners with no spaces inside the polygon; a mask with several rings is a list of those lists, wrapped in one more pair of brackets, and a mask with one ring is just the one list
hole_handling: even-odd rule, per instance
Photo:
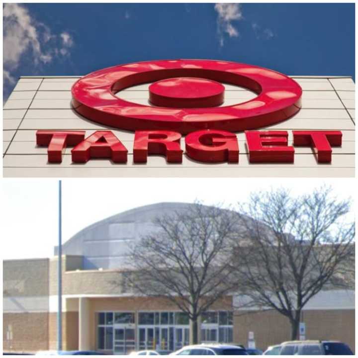
{"label": "bare tree in front of the glass entrance doors, left of two", "polygon": [[198,317],[233,288],[227,257],[236,218],[220,207],[188,204],[158,217],[158,230],[130,248],[133,291],[187,313],[192,344],[198,342]]}

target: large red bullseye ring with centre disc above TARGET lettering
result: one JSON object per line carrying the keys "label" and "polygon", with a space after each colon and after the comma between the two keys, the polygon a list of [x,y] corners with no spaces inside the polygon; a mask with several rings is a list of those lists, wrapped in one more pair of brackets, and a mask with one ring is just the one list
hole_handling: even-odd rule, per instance
{"label": "large red bullseye ring with centre disc above TARGET lettering", "polygon": [[[115,95],[145,83],[151,83],[153,106]],[[222,83],[252,90],[257,97],[219,107],[225,97]],[[227,61],[165,60],[93,72],[74,84],[72,104],[89,120],[124,130],[238,132],[288,119],[300,110],[301,95],[295,81],[265,68]]]}

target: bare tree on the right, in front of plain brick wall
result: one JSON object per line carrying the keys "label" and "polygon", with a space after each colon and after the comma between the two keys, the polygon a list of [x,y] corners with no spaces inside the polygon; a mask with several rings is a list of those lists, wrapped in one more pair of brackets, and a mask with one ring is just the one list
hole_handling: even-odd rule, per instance
{"label": "bare tree on the right, in front of plain brick wall", "polygon": [[307,302],[333,284],[352,282],[342,279],[355,250],[355,226],[345,217],[349,210],[350,201],[333,197],[327,187],[300,197],[284,189],[252,194],[238,210],[243,228],[233,250],[233,272],[243,293],[238,305],[276,310],[289,319],[291,339],[297,339]]}

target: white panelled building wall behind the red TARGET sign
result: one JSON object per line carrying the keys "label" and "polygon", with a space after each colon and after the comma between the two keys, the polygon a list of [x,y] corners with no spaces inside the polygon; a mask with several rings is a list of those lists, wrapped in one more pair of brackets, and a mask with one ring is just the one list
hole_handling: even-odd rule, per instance
{"label": "white panelled building wall behind the red TARGET sign", "polygon": [[[180,61],[185,62],[182,65],[185,67],[194,66],[186,62],[196,60]],[[158,63],[162,62],[165,61],[158,61]],[[225,61],[217,61],[217,63],[226,66]],[[122,68],[127,67],[126,72],[134,71],[140,66],[142,66],[141,63],[121,65]],[[152,68],[155,69],[155,66],[158,67],[153,64]],[[275,74],[283,77],[283,75]],[[240,148],[238,163],[225,161],[205,163],[193,160],[188,155],[185,147],[185,135],[188,133],[186,130],[186,133],[180,132],[182,133],[180,145],[184,152],[181,163],[168,163],[165,156],[150,155],[145,165],[133,160],[134,130],[140,128],[131,125],[131,121],[124,126],[130,130],[113,128],[111,125],[98,123],[98,118],[94,121],[88,115],[84,115],[86,111],[79,113],[78,107],[74,106],[74,93],[71,89],[80,78],[40,76],[19,79],[4,105],[4,177],[354,177],[355,84],[352,78],[292,77],[302,89],[300,110],[293,115],[287,114],[288,119],[257,127],[260,130],[287,131],[288,145],[293,143],[293,131],[340,131],[342,132],[342,145],[332,147],[331,163],[318,163],[315,151],[310,145],[294,146],[293,163],[251,163],[247,138],[242,130],[233,131]],[[272,79],[274,77],[271,76]],[[225,90],[224,102],[217,108],[242,106],[243,102],[252,100],[255,101],[253,108],[261,105],[261,101],[256,100],[259,98],[257,97],[259,90],[255,92],[247,87],[227,84],[224,80],[225,78],[221,81]],[[129,86],[128,82],[127,87],[117,91],[113,89],[113,91],[116,92],[117,99],[120,98],[132,105],[135,103],[135,105],[145,105],[147,108],[149,106],[156,109],[158,107],[149,102],[152,94],[149,86],[152,82],[148,81],[136,86]],[[111,94],[109,97],[113,99]],[[252,102],[250,103],[253,105]],[[218,116],[218,118],[221,120],[225,116]],[[113,122],[106,121],[106,123]],[[162,129],[169,130],[170,128],[164,125]],[[71,157],[72,148],[68,147],[63,151],[62,163],[49,163],[47,147],[36,145],[38,130],[84,131],[86,137],[98,130],[110,130],[128,150],[127,162],[114,163],[109,159],[90,159],[86,163],[74,163]]]}

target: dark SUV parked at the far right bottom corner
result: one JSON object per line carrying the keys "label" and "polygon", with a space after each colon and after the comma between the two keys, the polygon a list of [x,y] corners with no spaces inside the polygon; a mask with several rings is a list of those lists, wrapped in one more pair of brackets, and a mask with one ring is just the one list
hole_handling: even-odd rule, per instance
{"label": "dark SUV parked at the far right bottom corner", "polygon": [[349,346],[338,341],[290,341],[281,346],[281,356],[353,356]]}

